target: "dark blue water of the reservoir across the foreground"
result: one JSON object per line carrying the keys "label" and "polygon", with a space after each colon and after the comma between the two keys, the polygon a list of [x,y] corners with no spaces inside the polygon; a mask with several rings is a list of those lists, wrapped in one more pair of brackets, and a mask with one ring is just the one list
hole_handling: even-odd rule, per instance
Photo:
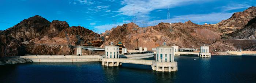
{"label": "dark blue water of the reservoir across the foreground", "polygon": [[[154,58],[148,58],[154,59]],[[194,60],[196,59],[196,60]],[[101,62],[34,62],[0,66],[0,83],[255,83],[256,56],[175,57],[178,71],[160,72],[148,65]]]}

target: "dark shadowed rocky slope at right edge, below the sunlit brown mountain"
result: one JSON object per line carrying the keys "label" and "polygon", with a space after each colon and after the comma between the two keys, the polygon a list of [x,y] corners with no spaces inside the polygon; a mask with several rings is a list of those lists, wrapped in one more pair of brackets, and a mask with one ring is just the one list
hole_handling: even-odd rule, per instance
{"label": "dark shadowed rocky slope at right edge, below the sunlit brown mountain", "polygon": [[256,37],[256,17],[248,22],[248,24],[235,32],[227,34],[234,39],[255,39]]}

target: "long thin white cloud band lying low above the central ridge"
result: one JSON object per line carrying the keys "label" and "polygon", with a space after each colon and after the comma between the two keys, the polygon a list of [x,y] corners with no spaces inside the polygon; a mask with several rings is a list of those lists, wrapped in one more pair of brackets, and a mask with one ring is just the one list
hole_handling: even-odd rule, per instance
{"label": "long thin white cloud band lying low above the central ridge", "polygon": [[[182,16],[174,16],[170,20],[154,20],[154,21],[146,21],[147,24],[141,24],[141,22],[145,22],[144,20],[138,20],[137,25],[139,26],[155,26],[159,24],[160,22],[186,22],[191,20],[193,23],[200,24],[200,23],[210,23],[210,24],[216,24],[222,20],[225,20],[232,16],[233,13],[209,13],[209,14],[189,14],[189,15],[182,15]],[[131,21],[124,21],[124,22],[118,22],[117,24],[106,24],[106,25],[98,25],[95,26],[94,29],[105,32],[105,30],[110,30],[117,25],[123,25],[124,23],[129,23]]]}

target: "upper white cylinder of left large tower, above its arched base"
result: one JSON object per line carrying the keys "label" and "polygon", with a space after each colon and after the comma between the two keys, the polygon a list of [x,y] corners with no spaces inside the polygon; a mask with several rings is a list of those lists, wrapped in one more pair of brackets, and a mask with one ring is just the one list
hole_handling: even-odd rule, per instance
{"label": "upper white cylinder of left large tower, above its arched base", "polygon": [[105,46],[105,58],[119,58],[118,51],[119,47],[111,42],[111,45]]}

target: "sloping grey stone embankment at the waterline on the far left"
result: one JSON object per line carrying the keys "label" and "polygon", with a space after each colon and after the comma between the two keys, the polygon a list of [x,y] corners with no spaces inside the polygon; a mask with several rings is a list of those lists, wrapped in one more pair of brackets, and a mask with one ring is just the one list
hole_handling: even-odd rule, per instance
{"label": "sloping grey stone embankment at the waterline on the far left", "polygon": [[28,63],[32,62],[29,59],[20,58],[19,56],[14,57],[1,57],[0,58],[0,65],[7,65],[7,64],[16,64],[16,63]]}

